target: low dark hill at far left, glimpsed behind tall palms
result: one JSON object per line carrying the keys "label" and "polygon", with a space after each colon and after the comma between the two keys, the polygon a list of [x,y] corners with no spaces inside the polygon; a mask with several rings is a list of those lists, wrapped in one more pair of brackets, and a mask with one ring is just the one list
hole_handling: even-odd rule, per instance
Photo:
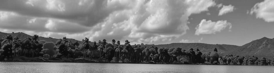
{"label": "low dark hill at far left, glimpsed behind tall palms", "polygon": [[[4,33],[4,32],[0,32],[0,38],[2,38],[3,36],[5,36],[5,35],[11,35],[11,36],[13,36],[13,37],[15,37],[15,36],[17,36],[19,39],[21,39],[21,40],[23,40],[23,39],[25,39],[25,38],[27,38],[27,37],[32,37],[32,36],[30,36],[30,35],[28,35],[28,34],[25,34],[25,33],[23,33],[23,32],[17,32],[17,33]],[[39,36],[39,35],[38,35]],[[47,42],[56,42],[58,39],[56,39],[56,38],[51,38],[51,37],[42,37],[42,36],[39,36],[38,37],[38,39],[39,40],[45,40],[45,41],[47,41]],[[60,38],[60,39],[63,39],[63,38]],[[76,42],[76,41],[78,41],[78,43],[80,44],[81,43],[81,41],[79,41],[79,40],[76,40],[76,39],[69,39],[72,43],[74,43],[74,42]]]}

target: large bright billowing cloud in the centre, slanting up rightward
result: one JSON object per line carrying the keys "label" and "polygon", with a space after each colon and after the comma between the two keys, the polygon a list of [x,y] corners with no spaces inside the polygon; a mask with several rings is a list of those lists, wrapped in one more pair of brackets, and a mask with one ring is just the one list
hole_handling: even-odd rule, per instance
{"label": "large bright billowing cloud in the centre, slanting up rightward", "polygon": [[[131,43],[163,44],[179,42],[188,30],[191,14],[208,11],[213,1],[137,1],[133,8],[111,13],[90,32],[91,40],[129,40]],[[165,6],[163,6],[163,4]]]}

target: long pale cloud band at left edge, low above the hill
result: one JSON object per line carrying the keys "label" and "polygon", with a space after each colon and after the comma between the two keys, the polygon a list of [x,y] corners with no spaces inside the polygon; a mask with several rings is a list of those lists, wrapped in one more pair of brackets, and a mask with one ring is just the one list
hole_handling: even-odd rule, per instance
{"label": "long pale cloud band at left edge, low above the hill", "polygon": [[0,28],[21,29],[34,32],[79,33],[89,31],[88,27],[79,26],[63,20],[29,17],[8,11],[0,11],[0,13]]}

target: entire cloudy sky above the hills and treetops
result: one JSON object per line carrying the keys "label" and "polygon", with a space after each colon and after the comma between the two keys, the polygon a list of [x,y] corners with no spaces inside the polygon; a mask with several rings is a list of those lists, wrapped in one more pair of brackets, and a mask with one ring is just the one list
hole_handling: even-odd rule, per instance
{"label": "entire cloudy sky above the hills and treetops", "polygon": [[274,38],[274,0],[0,0],[0,32],[131,44]]}

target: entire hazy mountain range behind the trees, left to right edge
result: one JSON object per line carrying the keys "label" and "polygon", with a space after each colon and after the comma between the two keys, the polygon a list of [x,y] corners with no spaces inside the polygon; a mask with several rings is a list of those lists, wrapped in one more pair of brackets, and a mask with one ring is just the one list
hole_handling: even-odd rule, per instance
{"label": "entire hazy mountain range behind the trees, left to right edge", "polygon": [[[4,33],[0,32],[0,37],[3,37],[5,35],[12,35],[17,36],[19,39],[25,39],[27,37],[31,37],[28,34],[25,34],[23,32],[17,32],[17,33]],[[39,40],[45,40],[48,42],[56,42],[58,39],[51,38],[51,37],[42,37],[39,36]],[[73,43],[78,41],[81,43],[81,41],[76,39],[69,39]],[[121,43],[122,44],[122,43]],[[133,45],[134,46],[134,45]],[[243,46],[236,46],[236,45],[227,45],[227,44],[204,44],[204,43],[171,43],[171,44],[160,44],[160,45],[142,45],[142,46],[156,46],[158,48],[164,47],[164,48],[177,48],[180,47],[182,49],[188,50],[190,48],[193,48],[196,50],[197,48],[202,53],[212,52],[214,48],[218,49],[218,53],[221,56],[227,55],[227,54],[233,54],[233,55],[254,55],[258,58],[265,57],[265,58],[273,58],[274,57],[274,38],[269,39],[267,37],[263,37],[261,39],[257,39],[254,41],[251,41],[250,43],[247,43]]]}

